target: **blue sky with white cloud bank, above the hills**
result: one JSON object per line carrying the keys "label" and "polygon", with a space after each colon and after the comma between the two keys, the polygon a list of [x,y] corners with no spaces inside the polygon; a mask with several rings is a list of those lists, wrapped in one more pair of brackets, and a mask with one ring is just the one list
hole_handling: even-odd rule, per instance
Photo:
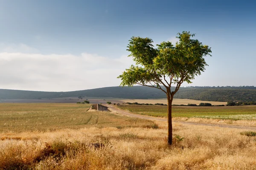
{"label": "blue sky with white cloud bank, above the hills", "polygon": [[183,86],[256,86],[252,0],[1,0],[0,24],[0,88],[118,86],[132,36],[157,44],[182,31],[212,47],[209,67]]}

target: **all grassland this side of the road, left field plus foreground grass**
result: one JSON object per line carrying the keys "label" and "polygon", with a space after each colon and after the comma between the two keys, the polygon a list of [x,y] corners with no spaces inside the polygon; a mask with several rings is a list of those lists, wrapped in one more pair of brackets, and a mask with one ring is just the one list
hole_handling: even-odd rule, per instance
{"label": "all grassland this side of the road, left field plus foreground grass", "polygon": [[254,133],[174,123],[168,146],[166,122],[86,112],[88,107],[0,104],[0,169],[256,169]]}

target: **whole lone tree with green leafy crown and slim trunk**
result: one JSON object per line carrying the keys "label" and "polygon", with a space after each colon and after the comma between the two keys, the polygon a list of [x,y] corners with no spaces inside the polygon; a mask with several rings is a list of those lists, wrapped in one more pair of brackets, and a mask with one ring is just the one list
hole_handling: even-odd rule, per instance
{"label": "whole lone tree with green leafy crown and slim trunk", "polygon": [[[157,48],[150,38],[131,37],[127,51],[136,65],[131,65],[119,77],[120,86],[135,84],[158,88],[167,96],[168,101],[168,144],[172,144],[172,100],[183,82],[192,83],[195,76],[201,75],[207,63],[204,57],[210,55],[211,48],[198,40],[192,40],[195,34],[183,31],[177,34],[179,39],[161,42]],[[175,85],[175,90],[171,87]]]}

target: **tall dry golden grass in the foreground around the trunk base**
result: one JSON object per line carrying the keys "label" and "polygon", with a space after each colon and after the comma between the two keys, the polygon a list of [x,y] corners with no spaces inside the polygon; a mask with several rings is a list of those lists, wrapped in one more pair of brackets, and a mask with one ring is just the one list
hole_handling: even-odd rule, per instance
{"label": "tall dry golden grass in the foreground around the trunk base", "polygon": [[[160,129],[87,127],[54,132],[4,134],[0,141],[0,169],[255,169],[256,138],[241,130],[174,124],[184,137],[166,145],[166,123]],[[26,140],[17,140],[23,136]],[[95,149],[88,144],[100,142]]]}

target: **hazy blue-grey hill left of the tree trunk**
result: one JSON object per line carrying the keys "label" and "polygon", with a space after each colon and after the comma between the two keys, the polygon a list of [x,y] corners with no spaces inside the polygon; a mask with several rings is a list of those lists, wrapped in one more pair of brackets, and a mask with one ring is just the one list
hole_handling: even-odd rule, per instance
{"label": "hazy blue-grey hill left of the tree trunk", "polygon": [[117,86],[67,92],[21,91],[0,89],[0,99],[51,99],[71,96],[114,97],[125,99],[148,99],[166,97],[165,93],[163,93],[162,91],[159,91],[156,88],[149,88],[145,86]]}

